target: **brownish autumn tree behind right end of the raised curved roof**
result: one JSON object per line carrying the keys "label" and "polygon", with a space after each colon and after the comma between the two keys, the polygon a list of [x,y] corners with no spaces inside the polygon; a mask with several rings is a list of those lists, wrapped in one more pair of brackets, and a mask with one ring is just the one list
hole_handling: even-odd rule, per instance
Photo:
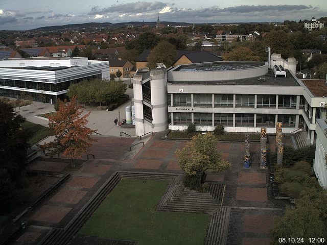
{"label": "brownish autumn tree behind right end of the raised curved roof", "polygon": [[223,55],[224,61],[260,61],[260,56],[256,55],[248,47],[237,47],[227,54]]}

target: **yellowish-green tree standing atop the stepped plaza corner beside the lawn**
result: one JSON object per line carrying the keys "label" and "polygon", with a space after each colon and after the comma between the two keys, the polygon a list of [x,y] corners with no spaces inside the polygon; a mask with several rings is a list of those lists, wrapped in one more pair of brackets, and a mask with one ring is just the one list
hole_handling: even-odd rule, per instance
{"label": "yellowish-green tree standing atop the stepped plaza corner beside the lawn", "polygon": [[213,133],[198,134],[183,149],[176,150],[178,164],[185,172],[186,186],[199,189],[205,181],[206,170],[222,171],[231,167],[229,162],[221,159],[216,149],[217,142]]}

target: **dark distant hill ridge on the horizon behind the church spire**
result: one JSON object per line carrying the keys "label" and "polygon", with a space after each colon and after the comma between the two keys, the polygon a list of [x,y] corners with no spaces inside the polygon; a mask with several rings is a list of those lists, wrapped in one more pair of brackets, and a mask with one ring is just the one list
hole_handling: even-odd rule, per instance
{"label": "dark distant hill ridge on the horizon behind the church spire", "polygon": [[[161,24],[165,24],[166,26],[188,26],[191,23],[186,22],[169,22],[169,21],[162,21]],[[59,31],[64,29],[76,29],[76,28],[117,28],[117,27],[126,27],[128,25],[134,26],[143,26],[144,24],[148,24],[149,26],[155,26],[156,22],[154,21],[130,21],[130,22],[121,22],[121,23],[110,23],[110,22],[88,22],[88,23],[81,23],[81,24],[65,24],[63,26],[50,26],[50,27],[40,27],[33,30],[36,31]]]}

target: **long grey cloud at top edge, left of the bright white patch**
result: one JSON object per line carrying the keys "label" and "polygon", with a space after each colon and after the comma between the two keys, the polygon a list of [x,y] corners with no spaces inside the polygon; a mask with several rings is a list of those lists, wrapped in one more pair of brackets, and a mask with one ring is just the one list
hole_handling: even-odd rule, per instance
{"label": "long grey cloud at top edge, left of the bright white patch", "polygon": [[109,13],[143,13],[149,11],[157,11],[166,7],[166,4],[161,2],[135,2],[128,4],[111,5],[108,8],[101,9],[99,6],[94,6],[88,13],[90,15],[104,15]]}

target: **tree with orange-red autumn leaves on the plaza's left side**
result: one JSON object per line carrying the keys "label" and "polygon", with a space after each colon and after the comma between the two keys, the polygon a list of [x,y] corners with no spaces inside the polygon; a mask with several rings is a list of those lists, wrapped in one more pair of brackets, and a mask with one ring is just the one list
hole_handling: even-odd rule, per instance
{"label": "tree with orange-red autumn leaves on the plaza's left side", "polygon": [[69,103],[66,100],[59,103],[59,110],[49,118],[49,128],[55,139],[45,143],[43,148],[52,154],[62,153],[72,159],[72,167],[75,167],[74,159],[87,154],[91,142],[95,141],[90,137],[95,130],[86,127],[90,113],[81,116],[83,110],[77,105],[76,96]]}

